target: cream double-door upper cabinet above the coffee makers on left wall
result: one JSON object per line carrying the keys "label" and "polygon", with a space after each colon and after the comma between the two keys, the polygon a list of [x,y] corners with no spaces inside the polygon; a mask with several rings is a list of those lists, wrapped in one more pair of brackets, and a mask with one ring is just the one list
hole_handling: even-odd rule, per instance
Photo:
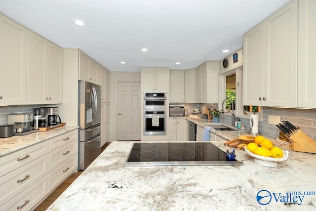
{"label": "cream double-door upper cabinet above the coffee makers on left wall", "polygon": [[27,104],[62,103],[63,50],[28,30]]}

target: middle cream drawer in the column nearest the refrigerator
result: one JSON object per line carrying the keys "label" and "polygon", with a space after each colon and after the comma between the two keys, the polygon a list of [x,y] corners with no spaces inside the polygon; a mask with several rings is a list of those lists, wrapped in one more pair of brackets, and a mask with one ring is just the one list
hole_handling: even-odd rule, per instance
{"label": "middle cream drawer in the column nearest the refrigerator", "polygon": [[78,139],[49,153],[49,171],[52,171],[78,153]]}

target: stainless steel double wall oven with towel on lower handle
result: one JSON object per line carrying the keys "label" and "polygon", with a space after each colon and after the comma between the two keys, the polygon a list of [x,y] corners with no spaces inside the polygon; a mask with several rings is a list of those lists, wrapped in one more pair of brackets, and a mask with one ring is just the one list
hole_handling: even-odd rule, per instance
{"label": "stainless steel double wall oven with towel on lower handle", "polygon": [[144,135],[166,135],[166,93],[144,93]]}

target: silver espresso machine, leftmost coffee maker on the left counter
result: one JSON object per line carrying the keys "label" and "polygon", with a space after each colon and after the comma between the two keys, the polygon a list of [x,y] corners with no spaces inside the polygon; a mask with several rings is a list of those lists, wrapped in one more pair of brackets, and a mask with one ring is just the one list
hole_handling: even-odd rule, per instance
{"label": "silver espresso machine, leftmost coffee maker on the left counter", "polygon": [[33,114],[8,114],[8,124],[14,125],[14,135],[27,135],[37,131],[32,128]]}

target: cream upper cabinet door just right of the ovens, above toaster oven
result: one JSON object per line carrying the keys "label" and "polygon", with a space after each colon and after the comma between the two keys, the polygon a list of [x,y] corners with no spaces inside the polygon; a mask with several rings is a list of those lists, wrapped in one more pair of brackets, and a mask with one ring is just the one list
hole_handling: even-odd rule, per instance
{"label": "cream upper cabinet door just right of the ovens, above toaster oven", "polygon": [[184,70],[170,70],[171,103],[184,103]]}

